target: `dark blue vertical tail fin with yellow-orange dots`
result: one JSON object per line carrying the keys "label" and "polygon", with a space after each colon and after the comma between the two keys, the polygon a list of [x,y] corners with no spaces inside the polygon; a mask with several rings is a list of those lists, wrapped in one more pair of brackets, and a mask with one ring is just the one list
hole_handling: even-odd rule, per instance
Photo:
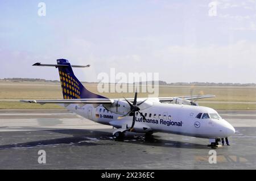
{"label": "dark blue vertical tail fin with yellow-orange dots", "polygon": [[60,83],[63,91],[64,99],[89,99],[89,98],[98,98],[105,99],[104,96],[94,94],[93,92],[88,91],[79,79],[76,78],[73,73],[72,67],[69,64],[68,60],[58,59],[59,74],[60,74]]}

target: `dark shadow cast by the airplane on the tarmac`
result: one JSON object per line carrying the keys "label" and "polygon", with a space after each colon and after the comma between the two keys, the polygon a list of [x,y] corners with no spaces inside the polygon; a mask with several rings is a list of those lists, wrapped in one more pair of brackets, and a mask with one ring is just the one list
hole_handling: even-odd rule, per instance
{"label": "dark shadow cast by the airplane on the tarmac", "polygon": [[[22,128],[26,129],[26,128]],[[148,146],[159,146],[166,148],[185,148],[185,149],[209,149],[207,145],[194,144],[191,142],[184,141],[172,141],[163,140],[162,136],[152,135],[145,136],[142,133],[127,133],[123,139],[116,139],[112,135],[112,129],[102,129],[102,131],[95,131],[92,129],[55,129],[48,130],[42,129],[35,131],[37,128],[31,128],[33,131],[21,131],[21,132],[53,132],[57,133],[56,136],[59,137],[61,134],[71,134],[72,137],[62,137],[62,138],[51,138],[49,140],[38,140],[30,142],[15,143],[9,145],[0,145],[0,150],[2,149],[14,149],[14,148],[31,148],[36,146],[96,146],[96,145],[113,145],[118,144],[118,142],[123,142],[127,144],[141,144]],[[0,136],[4,135],[6,132],[0,133]],[[7,132],[11,134],[12,132]],[[20,132],[13,132],[20,133]],[[48,133],[49,134],[49,133]],[[40,133],[42,135],[42,133]],[[46,133],[47,135],[47,133]],[[51,133],[52,137],[53,134]],[[29,137],[28,134],[26,134]],[[179,137],[179,135],[177,135]],[[104,142],[105,141],[105,142]]]}

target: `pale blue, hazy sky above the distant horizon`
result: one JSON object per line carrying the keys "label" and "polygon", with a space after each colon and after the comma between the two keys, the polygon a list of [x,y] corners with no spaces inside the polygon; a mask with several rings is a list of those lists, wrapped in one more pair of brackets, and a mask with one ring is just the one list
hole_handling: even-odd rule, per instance
{"label": "pale blue, hazy sky above the distant horizon", "polygon": [[[38,3],[46,16],[38,16]],[[159,72],[167,82],[256,82],[256,1],[0,1],[0,78],[59,79],[34,62]]]}

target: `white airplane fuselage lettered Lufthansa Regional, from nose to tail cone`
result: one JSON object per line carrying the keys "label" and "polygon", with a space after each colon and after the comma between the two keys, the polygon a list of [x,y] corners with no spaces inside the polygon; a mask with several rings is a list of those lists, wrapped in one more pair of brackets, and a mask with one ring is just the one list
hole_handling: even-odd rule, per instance
{"label": "white airplane fuselage lettered Lufthansa Regional, from nose to tail cone", "polygon": [[[104,106],[70,104],[67,109],[86,119],[115,128],[131,127],[133,116],[118,119],[122,114],[108,111]],[[146,120],[136,113],[134,132],[166,132],[202,138],[229,137],[236,131],[217,111],[202,106],[154,102],[141,110]]]}

